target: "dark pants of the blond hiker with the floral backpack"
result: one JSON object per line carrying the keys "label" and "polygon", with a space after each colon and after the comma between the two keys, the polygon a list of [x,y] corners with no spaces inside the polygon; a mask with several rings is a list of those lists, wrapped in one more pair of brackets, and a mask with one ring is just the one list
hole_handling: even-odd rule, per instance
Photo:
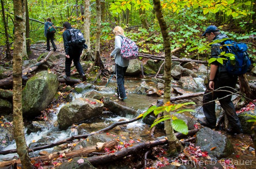
{"label": "dark pants of the blond hiker with the floral backpack", "polygon": [[121,98],[126,97],[125,93],[125,72],[127,67],[122,67],[116,64],[116,81],[117,81],[117,93]]}

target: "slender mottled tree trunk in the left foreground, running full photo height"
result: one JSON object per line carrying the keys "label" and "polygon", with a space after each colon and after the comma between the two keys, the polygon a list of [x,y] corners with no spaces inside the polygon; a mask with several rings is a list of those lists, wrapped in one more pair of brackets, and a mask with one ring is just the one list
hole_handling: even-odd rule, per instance
{"label": "slender mottled tree trunk in the left foreground, running full photo height", "polygon": [[26,0],[13,0],[15,35],[13,52],[13,125],[17,153],[23,169],[33,169],[30,163],[28,147],[24,135],[22,117],[22,51],[25,35]]}

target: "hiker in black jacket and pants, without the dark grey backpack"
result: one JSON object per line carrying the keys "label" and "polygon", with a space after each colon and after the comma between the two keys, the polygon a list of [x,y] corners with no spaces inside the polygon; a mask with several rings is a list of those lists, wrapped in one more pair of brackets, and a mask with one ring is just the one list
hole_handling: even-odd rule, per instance
{"label": "hiker in black jacket and pants, without the dark grey backpack", "polygon": [[65,22],[63,24],[64,32],[62,34],[63,36],[63,42],[64,42],[64,48],[66,53],[66,60],[65,60],[65,73],[66,76],[64,76],[64,79],[69,81],[70,80],[70,67],[72,60],[74,62],[74,65],[76,66],[77,71],[79,72],[79,75],[82,78],[82,81],[84,82],[86,80],[86,76],[84,74],[84,70],[80,64],[80,55],[82,54],[82,48],[78,46],[71,46],[71,34],[70,29],[72,29],[71,24],[69,22]]}

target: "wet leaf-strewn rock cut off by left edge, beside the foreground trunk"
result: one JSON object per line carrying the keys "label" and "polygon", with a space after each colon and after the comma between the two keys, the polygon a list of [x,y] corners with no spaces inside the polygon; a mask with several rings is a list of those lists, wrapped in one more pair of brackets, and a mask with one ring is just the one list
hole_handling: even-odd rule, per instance
{"label": "wet leaf-strewn rock cut off by left edge, beside the foreground trunk", "polygon": [[14,133],[13,133],[13,126],[12,124],[7,121],[5,118],[0,118],[2,121],[3,126],[0,125],[0,151],[4,149],[6,146],[12,144],[14,140]]}

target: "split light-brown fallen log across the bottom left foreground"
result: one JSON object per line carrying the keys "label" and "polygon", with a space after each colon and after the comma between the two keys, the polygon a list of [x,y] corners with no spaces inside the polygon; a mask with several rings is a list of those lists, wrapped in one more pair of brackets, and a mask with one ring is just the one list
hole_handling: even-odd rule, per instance
{"label": "split light-brown fallen log across the bottom left foreground", "polygon": [[[99,142],[95,146],[84,147],[82,149],[67,152],[67,153],[65,153],[65,157],[66,158],[74,158],[77,156],[87,157],[88,155],[90,155],[93,152],[102,152],[102,151],[104,151],[105,148],[112,149],[114,146],[116,146],[117,143],[118,143],[118,141],[116,141],[116,140],[108,141],[105,143]],[[61,153],[61,154],[63,154],[63,153]],[[47,161],[50,159],[58,158],[61,154],[58,152],[55,152],[50,155],[42,155],[42,156],[30,158],[30,161],[33,161],[33,160],[34,161],[36,161],[36,160]],[[2,161],[2,162],[0,162],[0,168],[12,165],[14,163],[20,164],[21,162],[20,162],[20,160]]]}

